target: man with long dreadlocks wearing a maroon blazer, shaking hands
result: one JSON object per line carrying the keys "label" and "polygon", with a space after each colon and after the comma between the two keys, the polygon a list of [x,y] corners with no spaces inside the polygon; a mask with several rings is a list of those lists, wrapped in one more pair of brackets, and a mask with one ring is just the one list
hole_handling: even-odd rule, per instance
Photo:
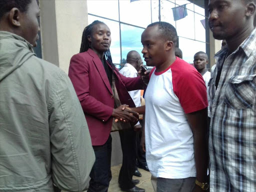
{"label": "man with long dreadlocks wearing a maroon blazer, shaking hands", "polygon": [[[120,104],[135,107],[128,91],[144,87],[141,77],[129,78],[117,71],[111,61],[110,43],[107,25],[93,21],[85,27],[80,53],[72,56],[68,71],[87,120],[96,157],[88,192],[106,192],[111,180],[110,130],[113,117],[126,122],[137,121],[136,112],[122,110],[123,105],[117,105],[116,95]],[[112,85],[115,85],[117,94],[112,91]],[[122,189],[129,192],[144,191],[134,184]]]}

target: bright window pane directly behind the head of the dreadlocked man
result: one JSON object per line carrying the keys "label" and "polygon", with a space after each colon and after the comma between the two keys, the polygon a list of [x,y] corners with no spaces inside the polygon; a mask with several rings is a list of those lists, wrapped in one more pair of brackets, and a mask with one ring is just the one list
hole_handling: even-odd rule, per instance
{"label": "bright window pane directly behind the head of the dreadlocked man", "polygon": [[97,16],[88,15],[88,23],[92,23],[94,20],[100,20],[104,22],[111,31],[111,45],[110,52],[113,63],[120,63],[120,35],[119,35],[119,23],[116,21],[103,19]]}

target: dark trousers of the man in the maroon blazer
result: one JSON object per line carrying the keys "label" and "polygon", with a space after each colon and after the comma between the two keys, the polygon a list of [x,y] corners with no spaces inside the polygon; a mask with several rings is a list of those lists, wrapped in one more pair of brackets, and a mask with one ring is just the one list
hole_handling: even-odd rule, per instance
{"label": "dark trousers of the man in the maroon blazer", "polygon": [[111,180],[111,149],[112,137],[109,135],[103,145],[92,146],[95,162],[90,171],[90,182],[87,192],[107,192]]}

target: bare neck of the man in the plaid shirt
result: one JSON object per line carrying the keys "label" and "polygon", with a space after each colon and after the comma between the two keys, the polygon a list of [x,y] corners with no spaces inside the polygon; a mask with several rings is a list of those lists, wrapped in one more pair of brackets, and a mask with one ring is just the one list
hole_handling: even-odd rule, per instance
{"label": "bare neck of the man in the plaid shirt", "polygon": [[250,35],[253,29],[253,25],[251,25],[250,27],[247,27],[245,30],[241,31],[241,33],[226,39],[228,55],[238,48],[238,46]]}

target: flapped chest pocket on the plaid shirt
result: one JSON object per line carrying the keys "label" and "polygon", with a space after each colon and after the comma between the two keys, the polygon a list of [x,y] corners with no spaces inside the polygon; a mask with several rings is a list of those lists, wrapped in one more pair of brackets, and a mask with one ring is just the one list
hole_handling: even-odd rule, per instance
{"label": "flapped chest pocket on the plaid shirt", "polygon": [[225,91],[225,104],[235,109],[251,108],[255,100],[256,74],[235,75],[229,79]]}

